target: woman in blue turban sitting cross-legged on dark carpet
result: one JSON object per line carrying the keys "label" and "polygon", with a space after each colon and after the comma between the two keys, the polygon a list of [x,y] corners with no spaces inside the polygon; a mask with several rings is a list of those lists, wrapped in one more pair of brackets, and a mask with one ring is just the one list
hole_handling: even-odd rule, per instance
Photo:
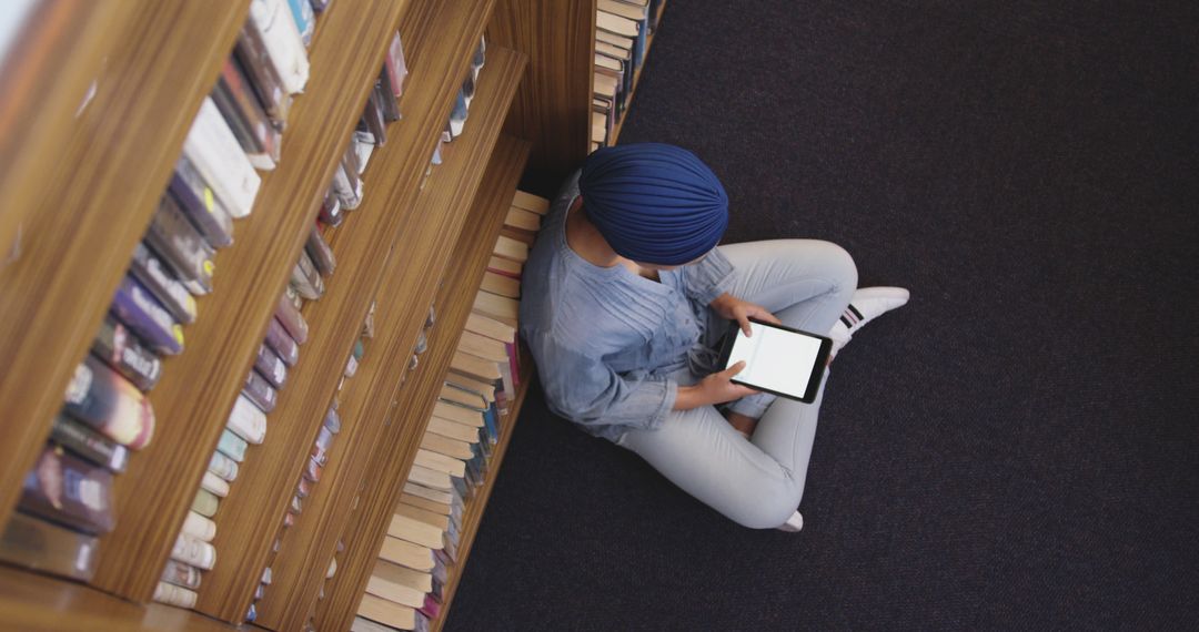
{"label": "woman in blue turban sitting cross-legged on dark carpet", "polygon": [[824,384],[811,405],[735,384],[743,363],[716,371],[719,339],[729,321],[748,333],[755,317],[827,333],[837,350],[908,292],[855,298],[857,271],[840,248],[717,248],[727,226],[724,188],[691,152],[639,144],[592,153],[525,265],[520,333],[556,414],[740,524],[799,530]]}

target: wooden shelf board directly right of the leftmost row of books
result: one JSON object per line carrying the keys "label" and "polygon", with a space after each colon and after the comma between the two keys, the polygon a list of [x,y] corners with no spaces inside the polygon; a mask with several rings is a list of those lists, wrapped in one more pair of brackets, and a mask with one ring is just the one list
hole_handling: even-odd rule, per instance
{"label": "wooden shelf board directly right of the leftmost row of books", "polygon": [[[321,29],[309,50],[307,93],[296,99],[290,113],[279,165],[264,174],[254,212],[235,225],[234,245],[218,254],[215,290],[200,298],[199,318],[185,330],[186,351],[163,363],[162,381],[150,394],[159,420],[153,443],[134,455],[128,472],[115,479],[119,523],[102,542],[97,587],[134,601],[149,601],[153,595],[194,490],[315,220],[317,205],[373,87],[378,69],[370,68],[382,63],[388,32],[398,23],[393,2],[375,0],[361,8],[335,4],[321,16]],[[349,34],[355,45],[347,45]],[[216,57],[223,62],[231,48],[233,41]],[[301,353],[307,353],[309,365],[319,364],[324,356],[312,348],[306,346]],[[329,361],[336,360],[330,357]],[[273,419],[275,434],[291,427],[277,421],[287,419],[279,413]],[[240,487],[241,479],[234,493]],[[235,561],[233,551],[235,546],[225,549],[225,559]]]}

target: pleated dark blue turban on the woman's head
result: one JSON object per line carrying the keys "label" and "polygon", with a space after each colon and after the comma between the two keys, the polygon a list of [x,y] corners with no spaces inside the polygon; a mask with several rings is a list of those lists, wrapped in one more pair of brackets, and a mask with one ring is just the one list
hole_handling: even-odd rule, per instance
{"label": "pleated dark blue turban on the woman's head", "polygon": [[588,219],[620,256],[679,266],[707,254],[729,225],[716,174],[682,147],[643,142],[604,147],[583,164]]}

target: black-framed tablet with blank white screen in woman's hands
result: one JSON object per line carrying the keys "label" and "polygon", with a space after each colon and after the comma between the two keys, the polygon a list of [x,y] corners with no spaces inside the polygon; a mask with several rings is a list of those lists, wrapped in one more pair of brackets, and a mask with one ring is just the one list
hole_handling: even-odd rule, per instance
{"label": "black-framed tablet with blank white screen in woman's hands", "polygon": [[749,328],[753,335],[746,338],[733,323],[721,350],[721,370],[745,360],[746,367],[733,377],[734,383],[805,403],[815,401],[832,340],[753,318]]}

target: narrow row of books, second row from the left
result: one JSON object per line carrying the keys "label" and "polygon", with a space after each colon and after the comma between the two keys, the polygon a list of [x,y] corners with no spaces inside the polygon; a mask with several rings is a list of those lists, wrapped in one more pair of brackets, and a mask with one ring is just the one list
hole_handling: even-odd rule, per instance
{"label": "narrow row of books, second row from the left", "polygon": [[[264,14],[264,8],[273,8],[273,12],[267,13],[269,16],[285,17],[278,11],[278,2],[265,2],[265,7],[263,5],[257,0],[252,5],[251,18],[247,20],[243,35],[252,29],[257,17]],[[293,11],[299,11],[306,5],[293,2],[289,6]],[[296,13],[296,16],[301,14],[303,13]],[[297,26],[306,24],[308,29],[299,29],[297,32],[291,34],[295,36],[291,38],[291,44],[295,45],[299,41],[300,44],[296,49],[305,55],[308,41],[303,34],[309,34],[313,25],[311,12],[307,18],[307,22],[297,18]],[[234,53],[235,57],[236,55],[237,50]],[[228,496],[230,484],[236,480],[239,468],[245,463],[247,452],[251,450],[249,446],[261,444],[266,438],[266,415],[273,411],[278,401],[278,393],[287,382],[288,372],[295,367],[300,359],[299,347],[308,338],[308,324],[301,310],[306,302],[317,300],[324,294],[325,279],[337,267],[329,235],[343,223],[347,211],[356,208],[362,200],[362,174],[373,147],[386,141],[386,123],[399,118],[397,101],[405,75],[403,48],[397,34],[385,56],[375,90],[367,102],[357,129],[338,162],[337,169],[335,169],[318,221],[311,229],[308,241],[293,267],[290,282],[279,297],[253,367],[246,378],[241,395],[234,403],[227,427],[222,432],[217,449],[209,462],[209,469],[204,473],[192,510],[185,519],[170,560],[163,570],[155,591],[155,601],[183,608],[193,607],[198,601],[198,589],[204,573],[216,564],[217,548],[212,541],[216,536],[217,524],[213,518],[219,509],[221,499]],[[282,130],[283,126],[276,123],[272,127],[276,130]],[[247,156],[253,156],[251,153],[253,151],[252,140],[248,136],[239,138],[239,141],[243,142],[242,148]],[[263,162],[261,164],[263,168],[273,166],[273,163]],[[344,371],[345,376],[354,373],[362,352],[363,346],[360,341],[351,352]],[[327,452],[332,436],[338,430],[339,419],[335,401],[321,425],[321,433],[315,439],[309,467],[297,484],[289,511],[282,519],[281,529],[294,523],[295,516],[300,512],[302,499],[311,492],[311,486],[319,480],[324,455]],[[278,539],[275,549],[278,549]],[[270,581],[271,570],[267,567],[264,570],[261,582],[255,590],[255,602],[261,598]],[[252,606],[247,619],[253,620],[257,612]]]}

